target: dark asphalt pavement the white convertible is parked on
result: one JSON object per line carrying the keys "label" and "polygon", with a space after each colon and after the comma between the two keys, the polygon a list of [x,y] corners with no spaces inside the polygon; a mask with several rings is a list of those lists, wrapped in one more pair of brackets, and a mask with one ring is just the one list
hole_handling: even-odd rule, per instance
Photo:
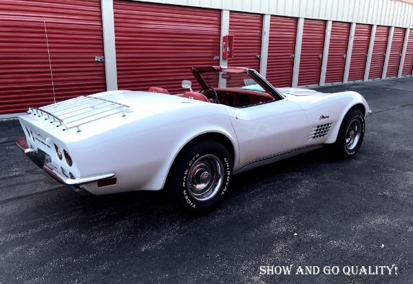
{"label": "dark asphalt pavement the white convertible is parked on", "polygon": [[0,284],[413,283],[413,78],[317,90],[370,103],[357,156],[321,149],[236,175],[204,216],[158,192],[79,196],[0,121]]}

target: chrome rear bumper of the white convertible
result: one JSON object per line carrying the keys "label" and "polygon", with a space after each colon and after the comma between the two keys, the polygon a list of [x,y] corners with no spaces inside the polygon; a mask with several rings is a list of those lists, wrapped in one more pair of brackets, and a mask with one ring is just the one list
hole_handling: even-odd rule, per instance
{"label": "chrome rear bumper of the white convertible", "polygon": [[65,185],[76,186],[83,185],[85,183],[94,183],[103,179],[112,178],[115,175],[114,172],[106,172],[103,174],[92,174],[89,176],[73,178],[73,176],[70,177],[71,174],[67,174],[67,172],[65,172],[65,170],[63,170],[63,168],[59,165],[56,165],[53,162],[45,164],[45,152],[39,149],[36,150],[34,148],[29,148],[25,137],[17,139],[16,143],[17,145],[19,145],[19,148],[26,154],[26,156],[28,156],[29,159],[32,160],[33,163],[39,166],[39,168],[43,168],[43,170],[47,172],[47,174],[52,176],[53,179]]}

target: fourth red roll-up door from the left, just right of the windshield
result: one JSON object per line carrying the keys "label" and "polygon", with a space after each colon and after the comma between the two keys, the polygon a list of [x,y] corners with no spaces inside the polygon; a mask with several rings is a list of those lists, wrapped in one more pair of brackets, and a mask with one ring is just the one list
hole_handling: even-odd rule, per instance
{"label": "fourth red roll-up door from the left, just right of the windshield", "polygon": [[297,19],[271,16],[266,79],[277,87],[293,81]]}

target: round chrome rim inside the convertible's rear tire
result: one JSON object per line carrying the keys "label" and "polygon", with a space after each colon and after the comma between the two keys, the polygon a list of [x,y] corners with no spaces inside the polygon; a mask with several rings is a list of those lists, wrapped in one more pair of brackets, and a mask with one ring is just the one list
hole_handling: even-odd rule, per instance
{"label": "round chrome rim inside the convertible's rear tire", "polygon": [[224,182],[224,165],[208,154],[196,159],[189,169],[187,188],[195,201],[207,202],[218,194]]}

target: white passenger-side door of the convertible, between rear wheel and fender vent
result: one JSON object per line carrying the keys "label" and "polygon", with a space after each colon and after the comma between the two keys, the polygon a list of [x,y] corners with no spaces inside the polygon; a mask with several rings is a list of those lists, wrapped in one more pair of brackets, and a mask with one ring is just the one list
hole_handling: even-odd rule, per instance
{"label": "white passenger-side door of the convertible, between rear wheel and fender vent", "polygon": [[227,112],[240,148],[237,168],[300,148],[308,134],[304,110],[286,99]]}

